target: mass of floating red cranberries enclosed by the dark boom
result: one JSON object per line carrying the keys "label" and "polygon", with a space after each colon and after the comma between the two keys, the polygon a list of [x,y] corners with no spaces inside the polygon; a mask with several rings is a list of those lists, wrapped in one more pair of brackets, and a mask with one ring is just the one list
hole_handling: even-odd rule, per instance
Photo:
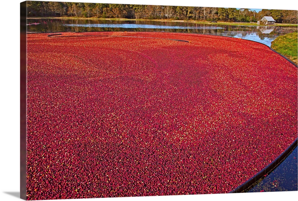
{"label": "mass of floating red cranberries enclosed by the dark boom", "polygon": [[253,41],[27,34],[27,199],[228,193],[297,138],[297,67]]}

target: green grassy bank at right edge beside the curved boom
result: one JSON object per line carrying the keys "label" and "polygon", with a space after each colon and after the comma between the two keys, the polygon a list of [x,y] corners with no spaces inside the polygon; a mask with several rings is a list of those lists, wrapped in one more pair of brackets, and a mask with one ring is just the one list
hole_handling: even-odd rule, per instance
{"label": "green grassy bank at right edge beside the curved boom", "polygon": [[297,32],[277,37],[271,42],[271,48],[284,55],[297,65]]}

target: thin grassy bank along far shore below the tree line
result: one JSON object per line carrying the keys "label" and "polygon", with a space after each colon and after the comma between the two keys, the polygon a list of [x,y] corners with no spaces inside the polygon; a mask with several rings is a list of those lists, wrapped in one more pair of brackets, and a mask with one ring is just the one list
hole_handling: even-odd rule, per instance
{"label": "thin grassy bank along far shore below the tree line", "polygon": [[[29,17],[28,19],[42,19],[45,17]],[[161,22],[190,22],[190,23],[197,23],[197,24],[214,24],[214,25],[232,25],[232,26],[265,26],[265,25],[257,25],[257,23],[249,23],[249,22],[209,22],[209,21],[194,21],[194,20],[147,20],[147,19],[126,19],[126,18],[75,18],[75,17],[46,17],[52,19],[82,19],[82,20],[117,20],[117,21],[161,21]],[[275,23],[274,25],[267,25],[267,26],[297,26],[297,24],[282,24],[282,23]]]}

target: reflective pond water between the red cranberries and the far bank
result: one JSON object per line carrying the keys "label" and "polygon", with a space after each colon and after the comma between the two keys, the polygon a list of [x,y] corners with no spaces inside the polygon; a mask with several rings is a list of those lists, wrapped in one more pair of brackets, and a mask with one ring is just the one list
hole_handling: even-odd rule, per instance
{"label": "reflective pond water between the red cranberries and the far bank", "polygon": [[216,23],[161,22],[141,20],[89,20],[89,19],[27,19],[27,32],[181,32],[212,34],[253,40],[271,46],[278,36],[297,32],[296,27],[281,26],[229,26]]}

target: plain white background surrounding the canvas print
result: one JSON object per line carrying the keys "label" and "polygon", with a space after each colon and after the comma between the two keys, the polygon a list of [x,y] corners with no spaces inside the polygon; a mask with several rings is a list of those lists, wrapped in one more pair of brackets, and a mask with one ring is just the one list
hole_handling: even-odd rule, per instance
{"label": "plain white background surrounding the canvas print", "polygon": [[[178,0],[74,0],[90,3],[151,4],[173,6],[204,6],[298,10],[295,0],[231,0],[178,1]],[[20,192],[20,2],[4,0],[1,2],[1,138],[0,138],[0,200],[19,200]],[[13,194],[13,195],[11,195]],[[185,196],[157,196],[130,198],[97,198],[92,200],[293,200],[298,191],[264,192],[242,194],[213,194]],[[91,200],[91,199],[87,199]]]}

